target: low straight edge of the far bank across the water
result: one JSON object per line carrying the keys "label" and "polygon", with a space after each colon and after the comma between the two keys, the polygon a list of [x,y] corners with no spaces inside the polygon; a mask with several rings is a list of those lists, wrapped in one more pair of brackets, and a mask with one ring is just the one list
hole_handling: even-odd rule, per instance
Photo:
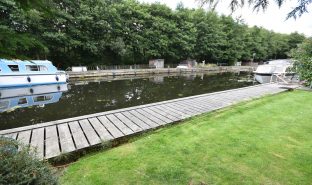
{"label": "low straight edge of the far bank across the water", "polygon": [[108,76],[136,76],[136,75],[155,75],[172,73],[203,73],[203,72],[252,72],[253,66],[218,66],[192,69],[162,68],[162,69],[116,69],[116,70],[93,70],[84,72],[67,71],[70,79],[94,78]]}

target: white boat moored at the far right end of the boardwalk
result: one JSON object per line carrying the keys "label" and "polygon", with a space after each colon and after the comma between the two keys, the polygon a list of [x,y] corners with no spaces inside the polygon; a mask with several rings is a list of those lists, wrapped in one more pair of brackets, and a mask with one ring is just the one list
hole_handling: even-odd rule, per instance
{"label": "white boat moored at the far right end of the boardwalk", "polygon": [[290,59],[272,60],[267,64],[259,65],[254,71],[255,79],[261,84],[277,81],[298,81],[296,73],[291,72],[293,61]]}

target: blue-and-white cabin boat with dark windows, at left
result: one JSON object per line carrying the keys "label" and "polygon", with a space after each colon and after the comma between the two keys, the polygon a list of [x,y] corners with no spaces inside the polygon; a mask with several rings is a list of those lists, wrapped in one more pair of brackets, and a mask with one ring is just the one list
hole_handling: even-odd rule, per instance
{"label": "blue-and-white cabin boat with dark windows, at left", "polygon": [[64,71],[59,71],[48,60],[0,59],[0,88],[62,84],[67,82]]}

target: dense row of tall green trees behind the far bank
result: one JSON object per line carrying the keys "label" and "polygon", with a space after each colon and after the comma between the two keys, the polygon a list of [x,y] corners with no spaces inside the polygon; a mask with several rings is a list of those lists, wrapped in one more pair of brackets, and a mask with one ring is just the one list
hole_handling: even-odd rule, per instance
{"label": "dense row of tall green trees behind the far bank", "polygon": [[260,61],[285,58],[304,40],[203,9],[135,0],[2,0],[0,15],[1,58],[47,58],[63,68],[150,58]]}

